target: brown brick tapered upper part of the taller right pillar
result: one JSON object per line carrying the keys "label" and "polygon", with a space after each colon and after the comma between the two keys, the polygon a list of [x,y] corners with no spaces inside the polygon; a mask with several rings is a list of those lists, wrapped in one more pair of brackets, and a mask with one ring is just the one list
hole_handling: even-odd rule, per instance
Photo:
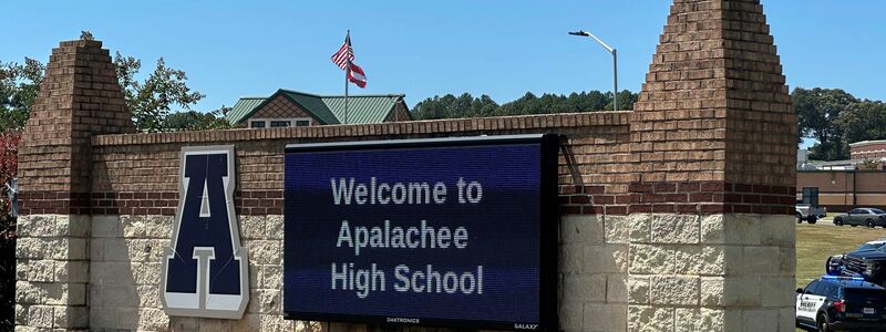
{"label": "brown brick tapered upper part of the taller right pillar", "polygon": [[[797,122],[784,82],[759,1],[674,1],[633,105],[635,180],[722,183],[701,212],[790,212]],[[633,211],[690,209],[650,198]]]}

